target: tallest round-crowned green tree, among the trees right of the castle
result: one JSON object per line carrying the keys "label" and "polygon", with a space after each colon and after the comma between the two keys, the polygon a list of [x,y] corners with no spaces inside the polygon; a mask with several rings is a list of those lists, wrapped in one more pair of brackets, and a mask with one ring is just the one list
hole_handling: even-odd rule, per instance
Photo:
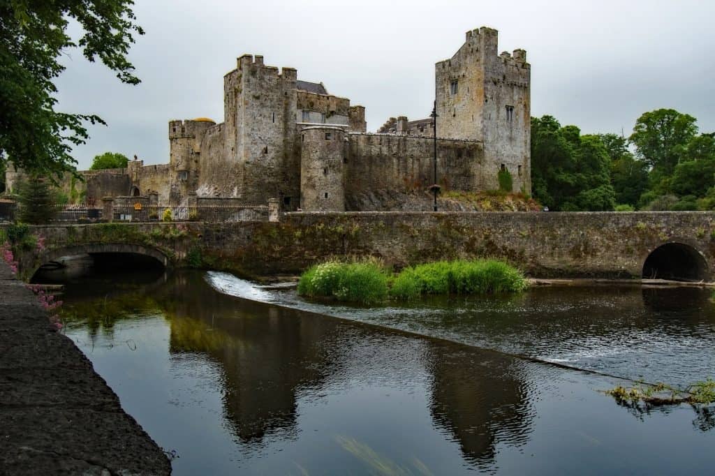
{"label": "tallest round-crowned green tree, among the trees right of the castle", "polygon": [[639,159],[658,173],[673,172],[682,157],[682,147],[698,132],[696,119],[675,109],[656,109],[642,114],[629,138]]}

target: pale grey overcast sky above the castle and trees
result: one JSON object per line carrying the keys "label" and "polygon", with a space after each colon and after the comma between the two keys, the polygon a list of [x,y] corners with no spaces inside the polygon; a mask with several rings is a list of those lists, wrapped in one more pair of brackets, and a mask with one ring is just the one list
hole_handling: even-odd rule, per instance
{"label": "pale grey overcast sky above the castle and trees", "polygon": [[147,32],[130,54],[139,86],[79,51],[62,60],[59,109],[108,124],[75,149],[80,169],[107,151],[169,162],[169,119],[222,122],[223,76],[244,53],[362,104],[368,131],[390,116],[420,119],[435,62],[480,26],[498,29],[499,51],[526,49],[532,116],[628,135],[640,114],[668,107],[715,130],[712,0],[136,0],[134,12]]}

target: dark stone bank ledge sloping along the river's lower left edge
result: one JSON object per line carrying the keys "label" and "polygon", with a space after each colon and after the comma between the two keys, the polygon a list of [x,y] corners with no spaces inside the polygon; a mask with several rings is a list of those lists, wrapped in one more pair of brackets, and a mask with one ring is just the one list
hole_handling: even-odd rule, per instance
{"label": "dark stone bank ledge sloping along the river's lower left edge", "polygon": [[171,472],[162,449],[4,262],[0,356],[1,472]]}

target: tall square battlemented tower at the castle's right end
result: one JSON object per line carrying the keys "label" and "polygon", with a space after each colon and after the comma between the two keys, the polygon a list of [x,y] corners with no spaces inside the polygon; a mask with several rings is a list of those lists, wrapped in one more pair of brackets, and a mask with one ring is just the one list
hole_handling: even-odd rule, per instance
{"label": "tall square battlemented tower at the castle's right end", "polygon": [[504,164],[514,191],[531,192],[531,66],[526,51],[498,56],[497,48],[498,32],[482,27],[435,65],[437,134],[484,142],[480,189],[498,188]]}

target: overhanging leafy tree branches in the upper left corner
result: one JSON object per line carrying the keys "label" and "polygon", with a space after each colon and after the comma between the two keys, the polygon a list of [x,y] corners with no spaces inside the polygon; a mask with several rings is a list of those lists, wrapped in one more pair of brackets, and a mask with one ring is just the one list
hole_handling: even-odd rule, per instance
{"label": "overhanging leafy tree branches in the upper left corner", "polygon": [[[89,61],[101,60],[120,81],[138,84],[127,59],[135,23],[132,0],[0,1],[0,162],[32,174],[58,177],[74,169],[73,146],[88,139],[84,124],[104,124],[94,114],[55,111],[53,80],[64,66],[57,59],[79,47]],[[75,42],[69,21],[82,28]]]}

